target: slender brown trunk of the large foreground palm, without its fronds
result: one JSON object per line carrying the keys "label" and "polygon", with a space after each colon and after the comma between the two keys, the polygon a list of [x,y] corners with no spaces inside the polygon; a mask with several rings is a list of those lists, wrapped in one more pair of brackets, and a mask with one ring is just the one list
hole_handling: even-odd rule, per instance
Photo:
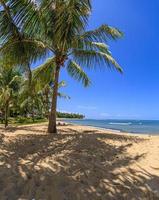
{"label": "slender brown trunk of the large foreground palm, without its fronds", "polygon": [[51,112],[49,116],[49,125],[48,125],[48,133],[57,133],[56,128],[56,107],[57,107],[57,94],[58,94],[58,82],[59,82],[59,73],[60,73],[60,66],[56,66],[55,71],[55,80],[53,86],[53,95],[52,95],[52,102],[51,102]]}

